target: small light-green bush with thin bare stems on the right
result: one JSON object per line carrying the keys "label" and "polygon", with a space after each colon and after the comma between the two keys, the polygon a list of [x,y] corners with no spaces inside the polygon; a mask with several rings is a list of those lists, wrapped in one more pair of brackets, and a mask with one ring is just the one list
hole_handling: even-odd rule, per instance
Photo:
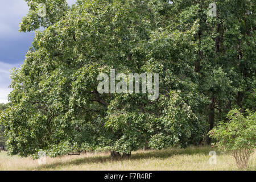
{"label": "small light-green bush with thin bare stems on the right", "polygon": [[256,146],[255,112],[246,110],[240,113],[237,109],[230,110],[227,118],[228,122],[221,122],[213,130],[209,131],[211,138],[215,139],[213,143],[219,150],[229,151],[236,159],[238,168],[246,168],[250,155],[254,152]]}

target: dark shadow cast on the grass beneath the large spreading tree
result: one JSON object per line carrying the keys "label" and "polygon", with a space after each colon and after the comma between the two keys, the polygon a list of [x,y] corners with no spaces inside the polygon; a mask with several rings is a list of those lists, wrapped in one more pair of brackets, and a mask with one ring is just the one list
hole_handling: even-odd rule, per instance
{"label": "dark shadow cast on the grass beneath the large spreading tree", "polygon": [[[55,162],[51,164],[46,164],[44,166],[39,166],[36,169],[54,169],[63,166],[69,165],[81,165],[81,164],[92,164],[92,163],[106,163],[106,162],[118,162],[123,160],[141,160],[141,159],[151,159],[151,158],[170,158],[175,155],[209,155],[209,151],[215,150],[214,148],[210,147],[188,147],[188,148],[168,148],[160,151],[156,150],[147,150],[147,151],[137,151],[132,153],[130,159],[116,159],[113,160],[110,158],[110,154],[107,156],[85,156],[85,158],[79,159],[71,159],[67,162]],[[220,152],[217,152],[218,155],[222,155]]]}

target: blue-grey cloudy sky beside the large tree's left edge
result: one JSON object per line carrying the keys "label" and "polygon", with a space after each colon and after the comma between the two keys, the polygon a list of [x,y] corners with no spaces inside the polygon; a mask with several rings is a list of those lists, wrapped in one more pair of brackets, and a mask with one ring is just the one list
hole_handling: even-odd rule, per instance
{"label": "blue-grey cloudy sky beside the large tree's left edge", "polygon": [[[72,5],[76,0],[67,0]],[[34,39],[34,32],[19,32],[19,23],[28,13],[24,0],[1,1],[0,6],[0,103],[6,103],[11,89],[10,69],[22,65]]]}

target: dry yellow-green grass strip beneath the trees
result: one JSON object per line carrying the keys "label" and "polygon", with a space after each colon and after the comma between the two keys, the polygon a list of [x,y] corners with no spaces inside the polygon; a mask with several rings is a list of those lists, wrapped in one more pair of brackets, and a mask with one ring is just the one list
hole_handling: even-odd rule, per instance
{"label": "dry yellow-green grass strip beneath the trees", "polygon": [[[110,159],[109,152],[85,153],[79,156],[48,158],[46,165],[37,160],[8,156],[0,152],[0,170],[238,170],[234,159],[217,152],[217,164],[210,165],[210,147],[168,148],[162,151],[132,152],[130,159]],[[255,152],[250,157],[247,170],[256,170]]]}

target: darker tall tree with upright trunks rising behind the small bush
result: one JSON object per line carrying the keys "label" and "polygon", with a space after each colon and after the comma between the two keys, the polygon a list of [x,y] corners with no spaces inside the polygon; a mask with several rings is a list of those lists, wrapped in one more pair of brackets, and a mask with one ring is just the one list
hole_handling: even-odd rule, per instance
{"label": "darker tall tree with upright trunks rising behind the small bush", "polygon": [[[171,11],[160,11],[161,18],[171,20],[174,29],[185,32],[192,24],[198,25],[189,53],[200,93],[209,100],[205,109],[200,110],[201,116],[208,115],[208,131],[232,107],[255,110],[255,84],[252,85],[255,82],[255,5],[253,1],[214,1],[216,16],[210,16],[210,3],[178,0],[172,4]],[[210,143],[209,137],[206,142]]]}

